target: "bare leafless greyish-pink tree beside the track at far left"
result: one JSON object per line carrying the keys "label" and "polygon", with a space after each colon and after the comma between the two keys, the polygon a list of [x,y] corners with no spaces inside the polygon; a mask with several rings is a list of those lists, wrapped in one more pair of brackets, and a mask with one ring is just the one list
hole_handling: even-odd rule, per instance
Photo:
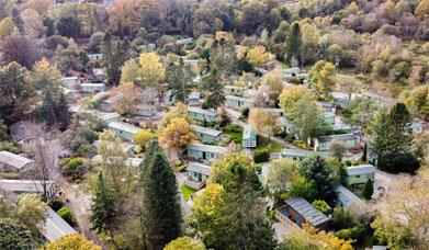
{"label": "bare leafless greyish-pink tree beside the track at far left", "polygon": [[34,164],[25,170],[23,175],[39,182],[42,193],[46,198],[50,181],[57,181],[60,178],[58,169],[58,155],[63,148],[60,133],[45,130],[42,124],[36,123],[30,123],[27,130],[33,139],[24,145],[24,150],[34,157]]}

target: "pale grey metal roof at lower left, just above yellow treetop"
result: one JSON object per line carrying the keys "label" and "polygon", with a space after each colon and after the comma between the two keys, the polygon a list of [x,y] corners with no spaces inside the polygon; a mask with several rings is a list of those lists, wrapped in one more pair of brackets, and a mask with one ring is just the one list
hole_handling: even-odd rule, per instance
{"label": "pale grey metal roof at lower left, just above yellow treetop", "polygon": [[76,230],[66,223],[53,208],[47,207],[47,216],[42,234],[52,242],[63,236],[75,234]]}

